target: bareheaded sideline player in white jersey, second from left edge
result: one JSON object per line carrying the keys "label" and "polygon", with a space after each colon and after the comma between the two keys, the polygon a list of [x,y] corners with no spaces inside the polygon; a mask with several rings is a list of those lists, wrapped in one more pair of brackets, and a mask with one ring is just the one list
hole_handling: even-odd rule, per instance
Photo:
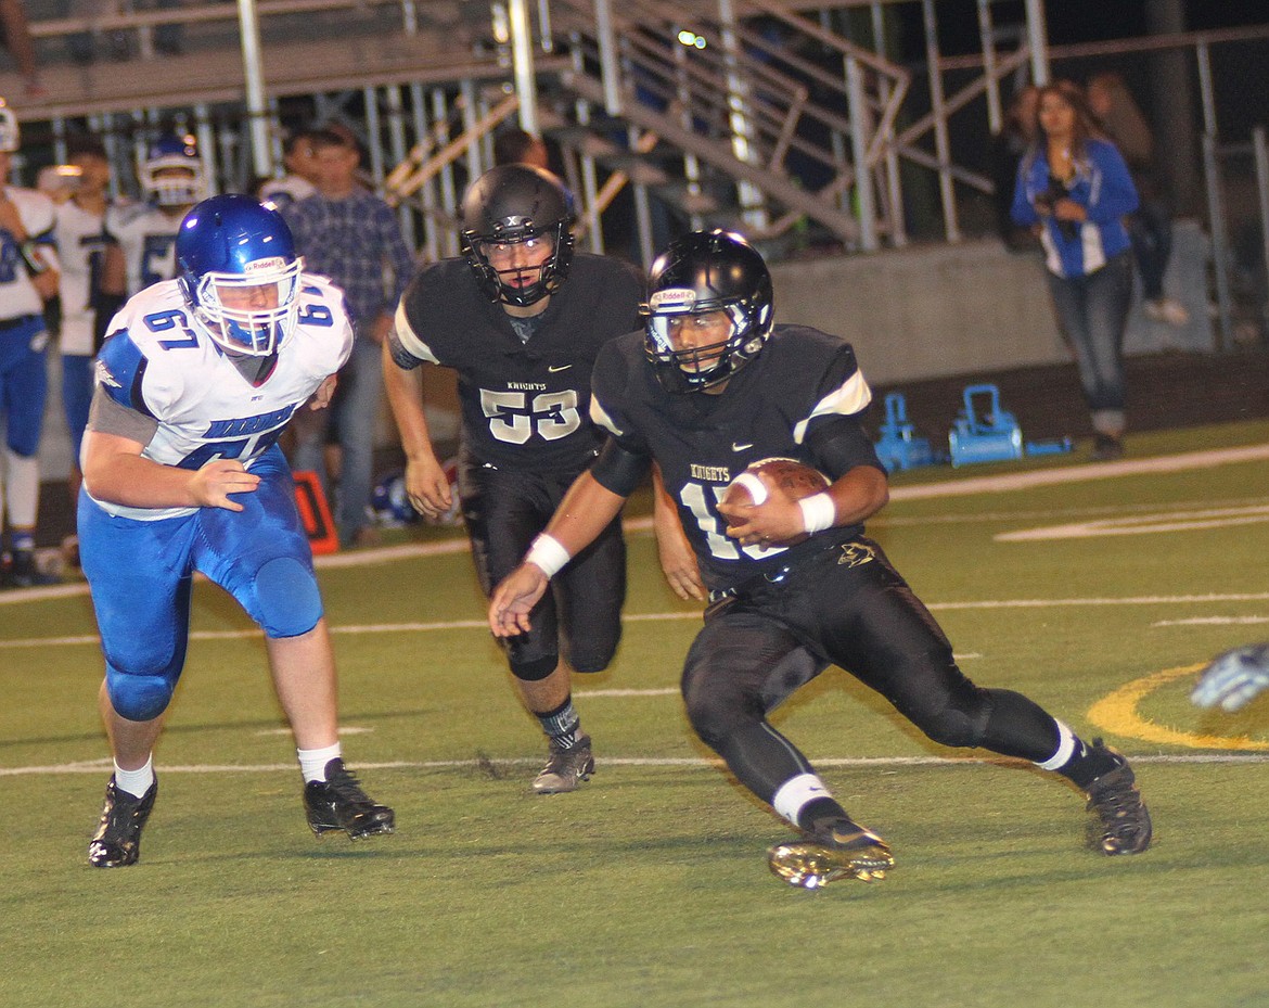
{"label": "bareheaded sideline player in white jersey, second from left edge", "polygon": [[109,194],[110,161],[102,141],[75,137],[67,143],[66,176],[74,180],[70,198],[57,206],[57,256],[62,264],[61,331],[62,409],[71,434],[71,500],[79,496],[79,454],[93,400],[93,357],[96,354],[98,316],[102,329],[123,303],[122,287],[107,298],[102,287],[105,260],[105,212],[115,206]]}

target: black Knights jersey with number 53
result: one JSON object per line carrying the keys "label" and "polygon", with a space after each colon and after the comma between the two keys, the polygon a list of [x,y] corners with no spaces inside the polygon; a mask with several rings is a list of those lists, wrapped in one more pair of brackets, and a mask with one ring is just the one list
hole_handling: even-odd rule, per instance
{"label": "black Knights jersey with number 53", "polygon": [[580,470],[599,439],[589,419],[595,357],[638,326],[640,298],[638,279],[624,265],[577,255],[522,343],[503,306],[480,293],[467,263],[447,259],[410,283],[396,330],[415,361],[458,372],[463,444],[476,460],[510,470]]}

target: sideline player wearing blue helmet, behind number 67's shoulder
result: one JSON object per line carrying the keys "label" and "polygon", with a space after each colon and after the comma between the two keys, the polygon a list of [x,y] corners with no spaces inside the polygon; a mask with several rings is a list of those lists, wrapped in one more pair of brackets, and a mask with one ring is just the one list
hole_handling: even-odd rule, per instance
{"label": "sideline player wearing blue helmet, behind number 67's shoulder", "polygon": [[112,289],[124,286],[129,295],[176,275],[176,229],[189,208],[207,197],[207,176],[192,136],[164,137],[151,146],[137,166],[137,179],[146,202],[121,206],[105,217],[113,246],[107,251],[104,283]]}

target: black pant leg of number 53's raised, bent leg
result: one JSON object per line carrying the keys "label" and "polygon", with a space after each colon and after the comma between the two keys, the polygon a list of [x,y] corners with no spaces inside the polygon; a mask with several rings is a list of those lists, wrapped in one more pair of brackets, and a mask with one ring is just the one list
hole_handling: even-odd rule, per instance
{"label": "black pant leg of number 53's raised, bent leg", "polygon": [[555,578],[569,664],[576,672],[603,672],[622,639],[626,603],[626,541],[621,519]]}

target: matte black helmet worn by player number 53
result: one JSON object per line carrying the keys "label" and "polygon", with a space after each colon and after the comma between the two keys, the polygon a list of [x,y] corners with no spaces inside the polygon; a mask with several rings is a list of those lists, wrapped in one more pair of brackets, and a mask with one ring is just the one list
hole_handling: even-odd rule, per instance
{"label": "matte black helmet worn by player number 53", "polygon": [[[528,307],[553,295],[572,263],[572,197],[549,171],[513,164],[492,168],[476,179],[463,197],[463,255],[476,273],[476,283],[490,301]],[[494,245],[551,241],[549,258],[538,278],[511,283],[490,263]],[[506,270],[523,273],[523,270]]]}

